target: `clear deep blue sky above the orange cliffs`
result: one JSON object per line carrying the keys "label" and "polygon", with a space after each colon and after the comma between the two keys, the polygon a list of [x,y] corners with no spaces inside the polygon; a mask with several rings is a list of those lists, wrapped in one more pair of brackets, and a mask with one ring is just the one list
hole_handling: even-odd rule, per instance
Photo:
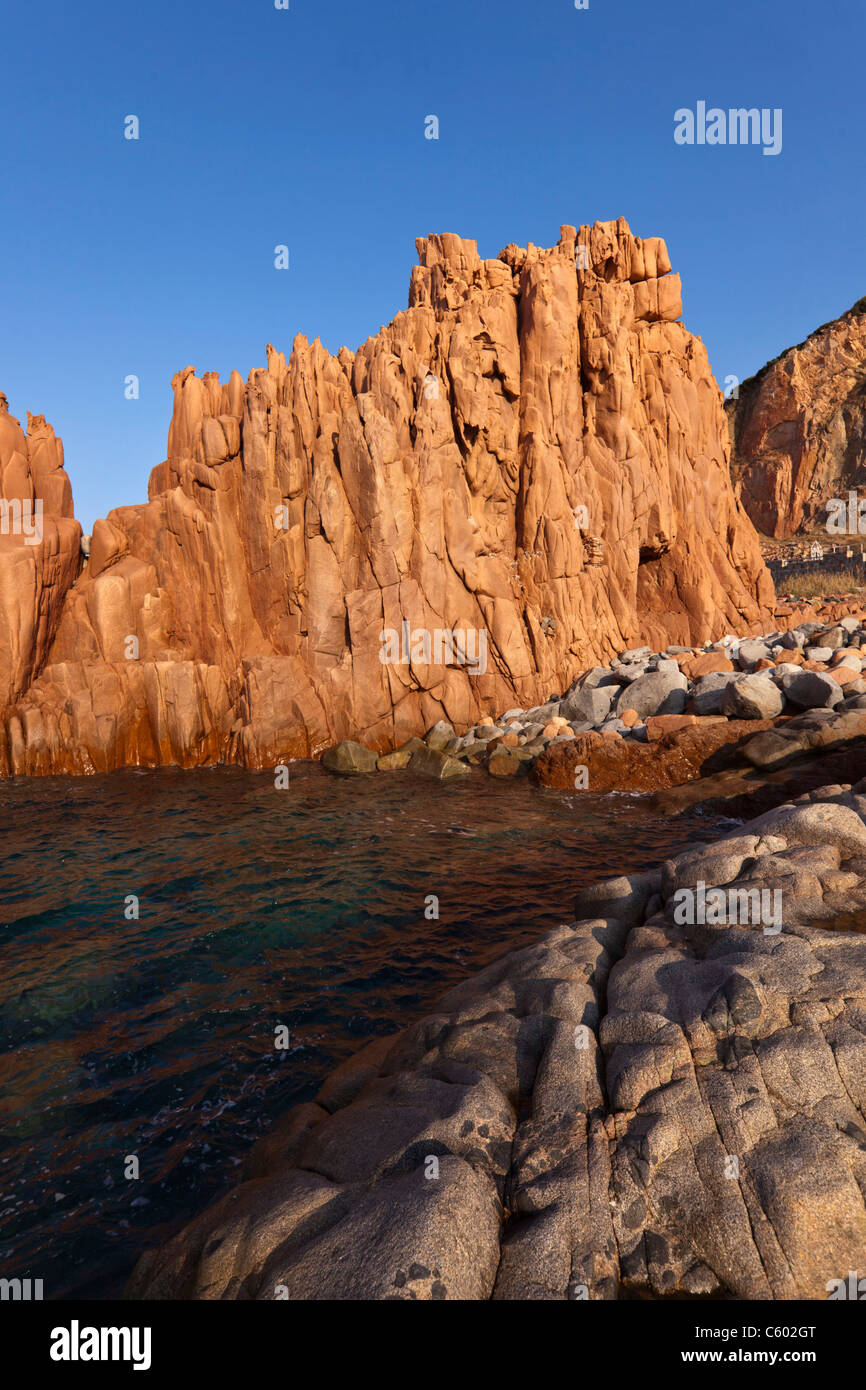
{"label": "clear deep blue sky above the orange cliffs", "polygon": [[[289,6],[6,7],[0,391],[63,436],[86,530],[145,500],[174,371],[359,346],[418,235],[496,256],[624,215],[720,384],[866,293],[863,0]],[[781,153],[676,145],[698,101],[780,107]]]}

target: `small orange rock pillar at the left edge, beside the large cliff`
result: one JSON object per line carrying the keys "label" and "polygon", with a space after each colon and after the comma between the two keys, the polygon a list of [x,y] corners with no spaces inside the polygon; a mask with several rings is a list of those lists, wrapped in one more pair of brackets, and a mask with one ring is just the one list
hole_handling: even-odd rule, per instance
{"label": "small orange rock pillar at the left edge, beside the large cliff", "polygon": [[81,563],[63,443],[43,416],[25,434],[0,395],[0,710],[43,664]]}

